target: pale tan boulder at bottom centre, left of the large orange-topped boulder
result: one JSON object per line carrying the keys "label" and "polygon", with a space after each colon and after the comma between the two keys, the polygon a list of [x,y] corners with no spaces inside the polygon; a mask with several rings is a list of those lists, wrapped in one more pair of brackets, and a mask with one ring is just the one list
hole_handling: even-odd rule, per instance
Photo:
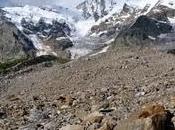
{"label": "pale tan boulder at bottom centre, left of the large orange-topped boulder", "polygon": [[85,123],[100,123],[104,115],[99,112],[91,113],[90,115],[84,118]]}

